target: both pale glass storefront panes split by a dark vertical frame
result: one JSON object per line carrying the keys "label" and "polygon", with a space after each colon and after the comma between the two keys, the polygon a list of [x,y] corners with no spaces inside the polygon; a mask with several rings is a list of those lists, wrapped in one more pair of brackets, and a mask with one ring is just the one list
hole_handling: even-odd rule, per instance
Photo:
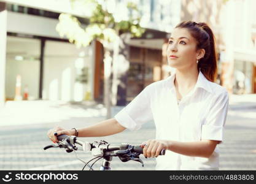
{"label": "both pale glass storefront panes split by a dark vertical frame", "polygon": [[[42,99],[83,101],[93,98],[92,47],[45,41]],[[41,39],[7,37],[6,99],[39,99]]]}

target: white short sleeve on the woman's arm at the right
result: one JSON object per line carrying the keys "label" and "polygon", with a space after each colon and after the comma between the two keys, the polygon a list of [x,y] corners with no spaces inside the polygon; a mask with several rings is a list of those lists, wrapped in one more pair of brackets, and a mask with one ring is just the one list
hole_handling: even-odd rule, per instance
{"label": "white short sleeve on the woman's arm at the right", "polygon": [[228,112],[227,91],[217,95],[212,101],[212,107],[201,129],[201,139],[223,140],[223,128]]}

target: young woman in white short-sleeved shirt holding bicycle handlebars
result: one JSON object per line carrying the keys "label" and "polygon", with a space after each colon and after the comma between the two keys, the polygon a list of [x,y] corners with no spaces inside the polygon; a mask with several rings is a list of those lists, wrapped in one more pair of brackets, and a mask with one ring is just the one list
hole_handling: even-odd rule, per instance
{"label": "young woman in white short-sleeved shirt holding bicycle handlebars", "polygon": [[[206,23],[184,21],[169,38],[169,66],[176,72],[154,82],[114,118],[79,128],[79,137],[117,134],[136,130],[154,120],[156,139],[147,140],[144,156],[157,157],[157,170],[218,170],[223,126],[227,117],[228,93],[214,83],[217,60],[214,34]],[[75,129],[54,128],[54,132],[74,135]],[[159,156],[166,149],[165,156]]]}

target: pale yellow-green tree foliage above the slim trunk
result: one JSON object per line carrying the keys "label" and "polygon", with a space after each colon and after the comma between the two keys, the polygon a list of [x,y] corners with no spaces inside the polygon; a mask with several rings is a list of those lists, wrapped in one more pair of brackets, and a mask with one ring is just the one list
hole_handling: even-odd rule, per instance
{"label": "pale yellow-green tree foliage above the slim trunk", "polygon": [[[61,13],[56,30],[61,37],[68,37],[69,42],[77,47],[87,47],[94,39],[104,42],[114,42],[122,33],[131,33],[131,37],[141,37],[145,29],[141,28],[139,22],[141,17],[136,4],[128,2],[128,20],[115,20],[114,14],[106,8],[106,1],[97,0],[72,0],[72,3],[80,1],[85,9],[93,9],[89,25],[83,27],[80,21],[68,14]],[[116,15],[118,16],[118,15]]]}

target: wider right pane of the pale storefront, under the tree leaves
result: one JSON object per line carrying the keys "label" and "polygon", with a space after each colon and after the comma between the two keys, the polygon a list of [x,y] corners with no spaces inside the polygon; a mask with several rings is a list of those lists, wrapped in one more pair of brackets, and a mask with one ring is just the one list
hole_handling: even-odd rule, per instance
{"label": "wider right pane of the pale storefront, under the tree leaves", "polygon": [[91,47],[78,49],[68,42],[47,40],[44,58],[43,99],[83,101],[93,98]]}

